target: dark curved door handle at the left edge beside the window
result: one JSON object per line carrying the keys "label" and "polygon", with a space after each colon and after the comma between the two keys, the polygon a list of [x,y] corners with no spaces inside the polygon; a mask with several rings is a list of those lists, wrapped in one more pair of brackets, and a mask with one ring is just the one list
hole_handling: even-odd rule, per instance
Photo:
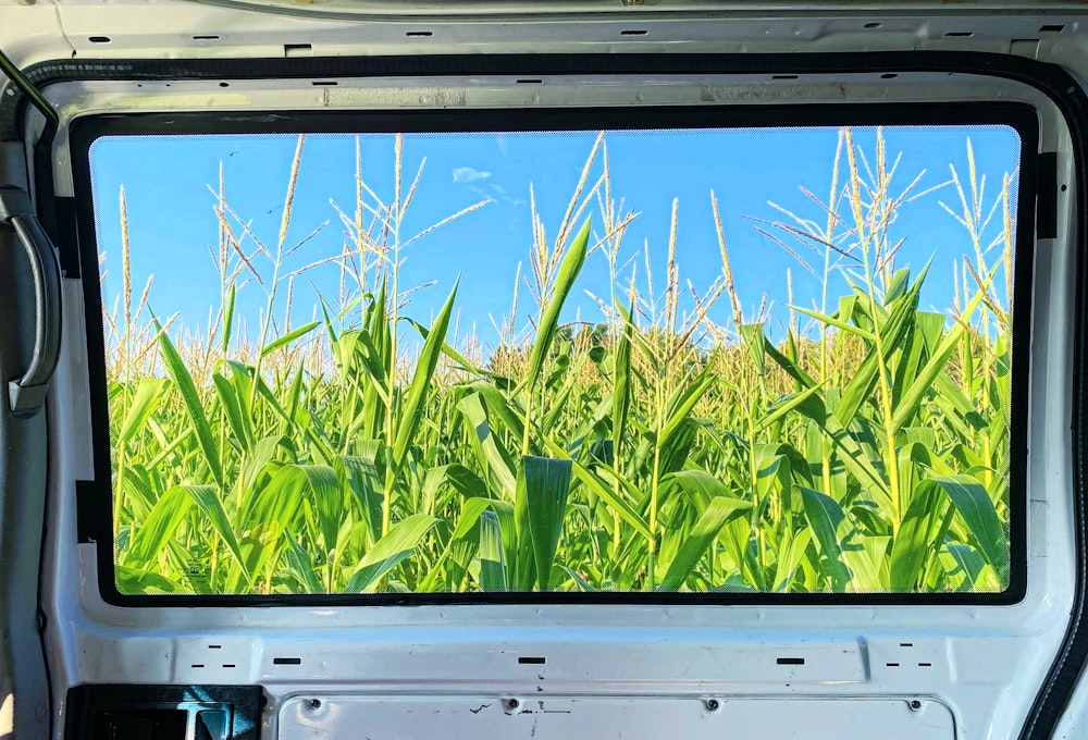
{"label": "dark curved door handle at the left edge beside the window", "polygon": [[15,414],[41,408],[61,349],[61,267],[49,236],[25,190],[0,187],[0,224],[10,226],[23,245],[34,278],[34,353],[26,372],[8,383]]}

